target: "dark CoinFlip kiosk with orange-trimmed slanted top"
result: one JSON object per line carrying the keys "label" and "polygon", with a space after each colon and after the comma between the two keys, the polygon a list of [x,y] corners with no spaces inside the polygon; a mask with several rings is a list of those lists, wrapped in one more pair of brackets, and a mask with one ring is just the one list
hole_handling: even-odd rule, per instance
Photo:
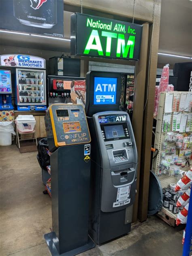
{"label": "dark CoinFlip kiosk with orange-trimmed slanted top", "polygon": [[76,255],[95,245],[88,237],[90,132],[83,105],[53,104],[45,115],[51,151],[52,255]]}

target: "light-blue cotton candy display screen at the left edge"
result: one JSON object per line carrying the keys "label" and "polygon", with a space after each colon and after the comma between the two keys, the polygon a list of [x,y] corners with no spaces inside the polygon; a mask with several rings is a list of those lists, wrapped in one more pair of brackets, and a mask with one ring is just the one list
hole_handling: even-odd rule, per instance
{"label": "light-blue cotton candy display screen at the left edge", "polygon": [[11,71],[0,70],[0,93],[11,94]]}

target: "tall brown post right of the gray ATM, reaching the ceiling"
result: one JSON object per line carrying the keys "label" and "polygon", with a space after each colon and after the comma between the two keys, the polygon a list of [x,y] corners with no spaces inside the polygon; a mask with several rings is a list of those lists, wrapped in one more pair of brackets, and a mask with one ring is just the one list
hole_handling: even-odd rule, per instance
{"label": "tall brown post right of the gray ATM, reaching the ceiling", "polygon": [[143,116],[142,154],[140,168],[139,186],[139,208],[138,219],[143,222],[147,220],[147,207],[149,195],[149,171],[151,161],[151,139],[153,128],[153,112],[155,85],[158,61],[159,30],[160,30],[161,0],[154,4],[154,23],[149,29],[149,49],[147,64],[147,79],[145,89],[145,105]]}

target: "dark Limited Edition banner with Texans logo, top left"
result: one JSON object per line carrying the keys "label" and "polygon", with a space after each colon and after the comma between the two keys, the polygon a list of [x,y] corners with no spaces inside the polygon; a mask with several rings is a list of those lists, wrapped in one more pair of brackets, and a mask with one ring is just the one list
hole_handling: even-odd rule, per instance
{"label": "dark Limited Edition banner with Texans logo, top left", "polygon": [[0,0],[0,2],[0,29],[64,37],[63,0]]}

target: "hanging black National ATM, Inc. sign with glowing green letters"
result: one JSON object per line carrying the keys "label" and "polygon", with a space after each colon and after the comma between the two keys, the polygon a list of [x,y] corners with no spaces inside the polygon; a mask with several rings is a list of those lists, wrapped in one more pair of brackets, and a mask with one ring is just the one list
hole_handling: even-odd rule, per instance
{"label": "hanging black National ATM, Inc. sign with glowing green letters", "polygon": [[71,54],[139,60],[142,25],[81,13],[71,15]]}

